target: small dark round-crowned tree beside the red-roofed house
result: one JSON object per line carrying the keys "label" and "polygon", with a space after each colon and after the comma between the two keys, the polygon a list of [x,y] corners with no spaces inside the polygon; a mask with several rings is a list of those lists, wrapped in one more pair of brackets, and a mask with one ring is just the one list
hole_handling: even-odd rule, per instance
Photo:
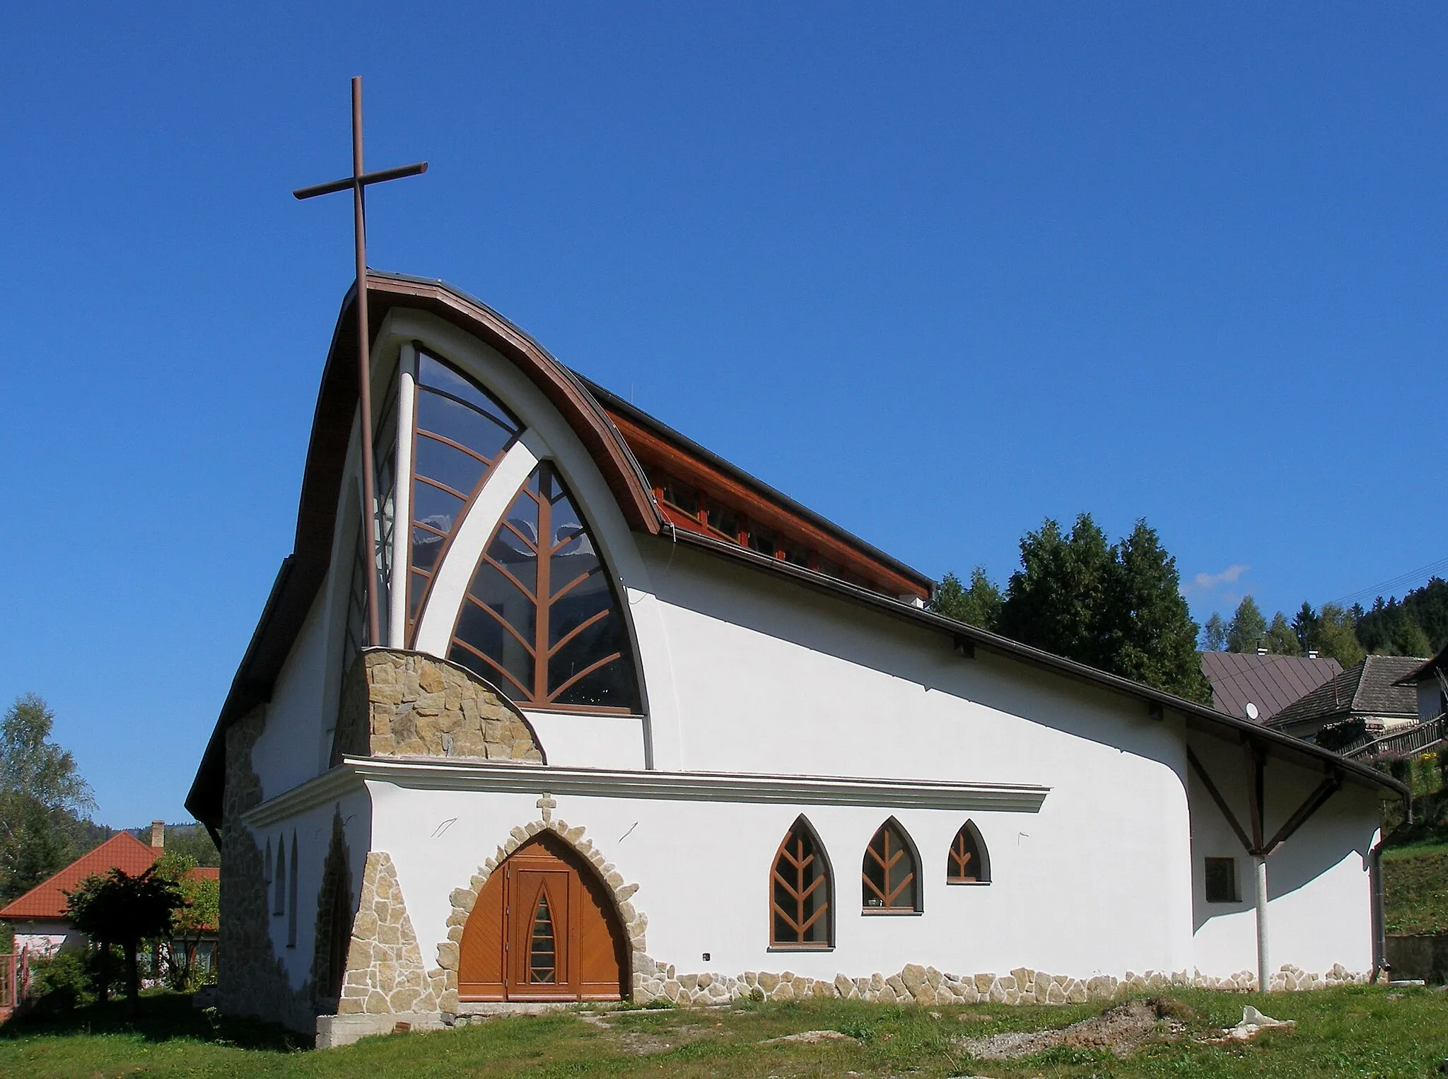
{"label": "small dark round-crowned tree beside the red-roofed house", "polygon": [[100,944],[101,1004],[109,998],[110,946],[126,953],[126,996],[135,1012],[140,999],[140,969],[136,949],[142,940],[171,936],[172,914],[182,905],[181,889],[155,872],[155,866],[132,876],[123,869],[87,876],[65,894],[71,924]]}

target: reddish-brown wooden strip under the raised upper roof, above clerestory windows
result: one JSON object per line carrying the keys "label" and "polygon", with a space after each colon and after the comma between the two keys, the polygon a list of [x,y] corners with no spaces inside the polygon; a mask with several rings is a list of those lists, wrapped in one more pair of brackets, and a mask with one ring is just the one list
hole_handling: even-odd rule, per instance
{"label": "reddish-brown wooden strip under the raised upper roof, above clerestory windows", "polygon": [[[730,508],[743,513],[749,520],[766,524],[775,532],[783,533],[808,547],[814,547],[831,562],[837,562],[851,574],[877,582],[893,595],[918,595],[921,600],[930,598],[930,587],[922,585],[919,579],[902,575],[892,565],[862,550],[859,545],[847,543],[821,529],[809,518],[780,507],[775,500],[740,482],[736,475],[670,443],[630,417],[610,410],[607,406],[605,411],[614,421],[614,426],[618,427],[624,442],[633,448],[634,456],[657,461],[660,468],[683,479],[686,484],[699,488],[704,494],[717,492],[717,497],[728,504]],[[689,532],[708,533],[698,521],[678,521],[668,508],[665,508],[665,514],[670,523]]]}

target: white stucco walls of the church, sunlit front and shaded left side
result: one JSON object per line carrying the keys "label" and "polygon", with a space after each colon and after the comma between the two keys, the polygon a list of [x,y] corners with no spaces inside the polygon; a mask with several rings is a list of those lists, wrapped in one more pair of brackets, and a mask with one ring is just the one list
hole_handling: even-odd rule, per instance
{"label": "white stucco walls of the church, sunlit front and shaded left side", "polygon": [[[576,434],[521,372],[456,327],[418,313],[390,314],[378,350],[395,353],[400,342],[413,339],[468,369],[527,424],[529,456],[555,461],[627,600],[644,714],[530,710],[550,766],[1050,788],[1034,814],[555,792],[556,815],[586,827],[623,876],[640,885],[633,902],[649,917],[654,959],[685,972],[789,969],[821,978],[892,973],[914,962],[956,973],[1030,966],[1077,978],[1148,969],[1222,976],[1254,966],[1250,902],[1209,910],[1202,895],[1200,860],[1208,855],[1237,856],[1247,897],[1251,883],[1245,855],[1229,831],[1224,839],[1225,823],[1187,778],[1187,736],[1170,710],[1154,720],[1141,701],[986,649],[964,659],[935,630],[668,536],[633,533]],[[507,494],[489,498],[485,516],[501,514]],[[450,572],[466,584],[491,521],[479,516],[469,526],[481,539],[455,545],[466,566],[445,563],[439,579]],[[343,546],[339,533],[334,552]],[[268,705],[253,752],[266,798],[320,771],[321,731],[336,708],[340,673],[333,658],[345,618],[339,568],[349,572],[350,561],[334,555],[333,574]],[[455,610],[434,611],[433,604],[456,607],[460,594],[453,587],[430,600],[423,650],[446,655]],[[1245,808],[1241,765],[1228,768],[1215,756],[1221,752],[1211,740],[1199,750],[1209,768],[1237,784],[1228,797],[1241,795]],[[1268,820],[1283,820],[1318,779],[1274,763]],[[371,781],[366,795],[349,795],[345,811],[353,888],[362,852],[390,853],[423,962],[432,966],[446,936],[450,892],[510,828],[539,817],[534,804],[544,789],[524,795]],[[799,813],[834,866],[837,931],[827,954],[767,950],[770,860]],[[285,917],[272,918],[274,944],[294,985],[311,967],[332,814],[332,804],[319,805],[256,830],[258,843],[269,837],[275,852],[282,836],[290,844],[295,828],[304,852],[295,949],[287,947]],[[860,860],[889,815],[922,857],[919,917],[860,912]],[[989,846],[989,886],[944,882],[947,846],[967,815]],[[1363,857],[1376,820],[1374,795],[1345,788],[1274,856],[1271,912],[1274,925],[1281,924],[1274,966],[1370,965]]]}

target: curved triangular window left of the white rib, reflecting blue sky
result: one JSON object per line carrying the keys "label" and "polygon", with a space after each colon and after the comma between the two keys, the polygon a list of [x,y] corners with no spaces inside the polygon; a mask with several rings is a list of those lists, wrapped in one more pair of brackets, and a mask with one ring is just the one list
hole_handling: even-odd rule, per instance
{"label": "curved triangular window left of the white rib, reflecting blue sky", "polygon": [[482,387],[449,364],[417,353],[413,436],[413,553],[407,575],[407,626],[442,563],[462,511],[523,424]]}

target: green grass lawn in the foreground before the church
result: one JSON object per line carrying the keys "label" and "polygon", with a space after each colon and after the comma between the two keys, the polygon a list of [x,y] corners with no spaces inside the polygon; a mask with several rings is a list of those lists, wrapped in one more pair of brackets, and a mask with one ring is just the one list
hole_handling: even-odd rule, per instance
{"label": "green grass lawn in the foreground before the church", "polygon": [[[184,996],[143,1001],[132,1025],[122,1008],[80,1009],[49,1024],[0,1028],[0,1075],[14,1076],[1371,1076],[1420,1079],[1448,1057],[1448,995],[1354,986],[1270,999],[1173,991],[1186,1020],[1174,1041],[1118,1060],[1056,1049],[1014,1062],[972,1060],[957,1044],[1009,1030],[1061,1027],[1106,1005],[895,1007],[853,1001],[741,1002],[727,1008],[579,1009],[494,1020],[433,1034],[394,1034],[336,1050],[300,1050],[264,1024],[209,1018]],[[1241,1018],[1244,1004],[1297,1021],[1248,1044],[1203,1044]],[[604,1025],[607,1024],[607,1025]],[[856,1041],[776,1043],[807,1030]]]}

